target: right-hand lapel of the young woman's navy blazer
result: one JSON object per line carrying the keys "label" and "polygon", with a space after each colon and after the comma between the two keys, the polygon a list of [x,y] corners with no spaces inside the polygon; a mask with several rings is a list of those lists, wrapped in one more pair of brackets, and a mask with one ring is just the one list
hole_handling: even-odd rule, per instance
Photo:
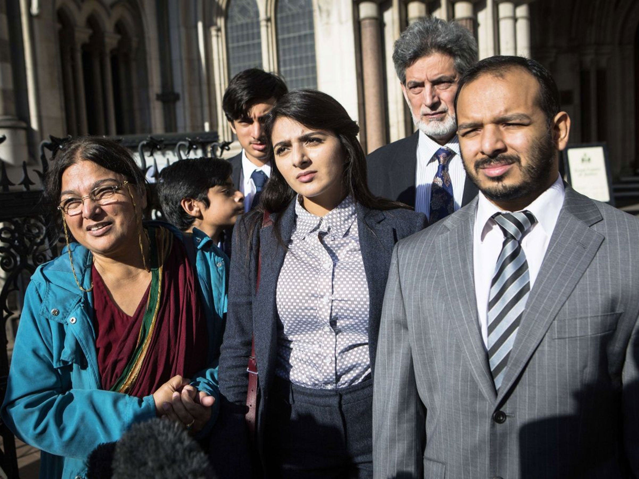
{"label": "right-hand lapel of the young woman's navy blazer", "polygon": [[383,211],[367,209],[357,204],[357,231],[362,261],[368,283],[368,337],[371,367],[374,365],[377,336],[380,332],[381,305],[389,275],[390,258],[395,240],[392,227],[385,227]]}

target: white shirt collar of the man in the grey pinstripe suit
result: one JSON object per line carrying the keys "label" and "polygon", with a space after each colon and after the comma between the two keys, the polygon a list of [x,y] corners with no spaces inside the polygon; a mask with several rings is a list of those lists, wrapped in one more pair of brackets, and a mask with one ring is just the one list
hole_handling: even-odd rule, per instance
{"label": "white shirt collar of the man in the grey pinstripe suit", "polygon": [[[479,192],[478,196],[477,215],[475,216],[475,236],[481,235],[479,239],[483,242],[486,233],[490,231],[493,225],[497,224],[495,220],[491,220],[491,216],[495,213],[502,212],[502,210],[490,202],[482,192]],[[566,197],[564,181],[562,181],[561,176],[557,176],[555,183],[553,183],[548,190],[544,191],[535,201],[524,208],[535,215],[537,224],[539,224],[548,237],[552,235],[555,229],[559,211],[564,204],[564,197]]]}

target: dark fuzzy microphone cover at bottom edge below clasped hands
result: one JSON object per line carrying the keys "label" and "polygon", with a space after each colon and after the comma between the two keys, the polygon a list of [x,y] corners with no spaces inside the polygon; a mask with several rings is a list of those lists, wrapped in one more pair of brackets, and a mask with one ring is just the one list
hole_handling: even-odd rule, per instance
{"label": "dark fuzzy microphone cover at bottom edge below clasped hands", "polygon": [[215,479],[208,457],[180,425],[160,418],[134,424],[88,458],[88,479]]}

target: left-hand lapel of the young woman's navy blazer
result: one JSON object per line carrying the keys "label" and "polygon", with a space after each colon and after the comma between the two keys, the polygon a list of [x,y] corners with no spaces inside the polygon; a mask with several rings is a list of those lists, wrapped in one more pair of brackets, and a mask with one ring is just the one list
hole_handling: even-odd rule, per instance
{"label": "left-hand lapel of the young woman's navy blazer", "polygon": [[[280,231],[284,243],[291,238],[295,225],[295,201],[280,213]],[[273,214],[275,221],[277,215]],[[273,225],[266,226],[259,233],[259,254],[261,255],[261,273],[259,290],[253,303],[253,332],[260,340],[255,342],[255,353],[258,358],[258,374],[260,387],[268,387],[268,382],[275,371],[277,357],[277,305],[275,291],[286,248],[277,241]]]}

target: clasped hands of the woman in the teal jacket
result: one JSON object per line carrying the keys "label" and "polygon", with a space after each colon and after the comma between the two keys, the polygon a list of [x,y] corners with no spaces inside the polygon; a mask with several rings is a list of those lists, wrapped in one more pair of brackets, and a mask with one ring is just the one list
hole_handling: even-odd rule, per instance
{"label": "clasped hands of the woman in the teal jacket", "polygon": [[182,423],[195,433],[211,418],[215,398],[189,383],[187,377],[173,376],[153,393],[153,400],[158,416]]}

